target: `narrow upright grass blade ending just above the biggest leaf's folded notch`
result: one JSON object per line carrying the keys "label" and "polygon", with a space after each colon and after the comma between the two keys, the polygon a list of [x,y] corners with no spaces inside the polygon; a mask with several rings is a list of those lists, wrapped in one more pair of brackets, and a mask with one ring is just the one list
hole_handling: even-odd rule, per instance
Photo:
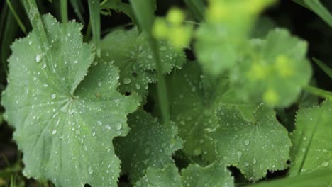
{"label": "narrow upright grass blade ending just above the biggest leaf's folded notch", "polygon": [[96,55],[100,57],[100,1],[88,0],[90,23],[92,27],[92,38],[96,47]]}

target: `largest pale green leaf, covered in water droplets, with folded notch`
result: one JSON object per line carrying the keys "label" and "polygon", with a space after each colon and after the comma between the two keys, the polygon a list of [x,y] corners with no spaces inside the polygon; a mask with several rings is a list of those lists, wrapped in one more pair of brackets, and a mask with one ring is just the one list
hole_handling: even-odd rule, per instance
{"label": "largest pale green leaf, covered in water droplets, with folded notch", "polygon": [[120,160],[112,139],[127,134],[126,115],[138,107],[138,98],[116,91],[116,67],[92,65],[81,25],[64,27],[52,16],[44,16],[43,25],[50,58],[35,30],[14,42],[2,101],[23,152],[23,174],[56,186],[116,186]]}

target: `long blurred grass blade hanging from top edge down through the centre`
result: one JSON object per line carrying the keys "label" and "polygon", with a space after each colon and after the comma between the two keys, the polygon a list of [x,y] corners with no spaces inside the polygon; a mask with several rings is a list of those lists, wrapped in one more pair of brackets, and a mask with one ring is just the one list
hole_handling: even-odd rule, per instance
{"label": "long blurred grass blade hanging from top edge down through the centre", "polygon": [[160,103],[160,111],[162,113],[162,120],[164,123],[170,122],[170,106],[168,103],[168,94],[167,94],[167,87],[165,82],[165,77],[162,74],[162,62],[160,60],[159,55],[159,47],[157,40],[153,38],[152,28],[153,22],[155,19],[154,16],[154,5],[153,1],[150,0],[130,0],[131,5],[133,6],[133,11],[136,16],[136,20],[138,21],[138,25],[140,29],[148,33],[148,40],[153,52],[153,57],[156,60],[156,67],[157,67],[157,94],[158,100]]}

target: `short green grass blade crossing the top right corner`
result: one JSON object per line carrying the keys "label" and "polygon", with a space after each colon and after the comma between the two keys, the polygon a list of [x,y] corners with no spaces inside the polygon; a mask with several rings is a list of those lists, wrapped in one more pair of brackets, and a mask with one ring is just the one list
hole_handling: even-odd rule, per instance
{"label": "short green grass blade crossing the top right corner", "polygon": [[304,0],[304,3],[306,6],[308,6],[311,11],[316,13],[319,17],[323,19],[326,23],[328,23],[329,26],[332,27],[332,15],[328,11],[328,9],[321,4],[321,1],[319,0]]}

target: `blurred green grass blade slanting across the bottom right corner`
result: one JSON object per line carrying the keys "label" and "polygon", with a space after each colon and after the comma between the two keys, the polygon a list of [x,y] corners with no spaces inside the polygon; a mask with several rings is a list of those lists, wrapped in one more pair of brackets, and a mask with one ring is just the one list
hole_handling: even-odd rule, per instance
{"label": "blurred green grass blade slanting across the bottom right corner", "polygon": [[321,169],[309,174],[301,174],[294,177],[286,177],[284,179],[278,179],[275,181],[260,182],[250,186],[253,187],[280,187],[280,186],[292,186],[292,187],[309,187],[309,186],[329,186],[331,183],[332,169]]}

